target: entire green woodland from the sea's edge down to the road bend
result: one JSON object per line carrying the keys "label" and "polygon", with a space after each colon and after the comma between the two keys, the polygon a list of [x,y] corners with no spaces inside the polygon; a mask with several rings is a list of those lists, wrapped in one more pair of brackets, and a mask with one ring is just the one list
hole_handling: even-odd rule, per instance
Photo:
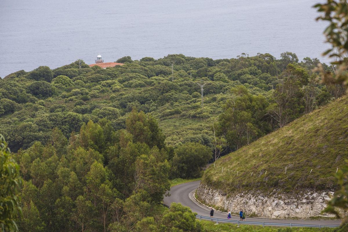
{"label": "entire green woodland from the sea's edge down to the road bend", "polygon": [[280,57],[123,57],[1,79],[0,134],[23,178],[19,230],[203,230],[186,207],[159,212],[169,179],[199,177],[209,159],[345,92],[320,82],[318,59]]}

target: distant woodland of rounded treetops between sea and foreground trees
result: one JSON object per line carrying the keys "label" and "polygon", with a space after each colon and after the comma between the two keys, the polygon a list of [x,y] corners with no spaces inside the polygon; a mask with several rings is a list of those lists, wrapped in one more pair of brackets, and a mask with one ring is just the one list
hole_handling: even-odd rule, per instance
{"label": "distant woodland of rounded treetops between sea and foreground trees", "polygon": [[[159,121],[169,146],[198,142],[214,154],[235,150],[344,93],[341,84],[320,83],[313,71],[318,59],[280,57],[124,57],[117,61],[125,65],[106,69],[79,68],[77,61],[18,71],[0,80],[0,133],[16,152],[46,143],[54,128],[69,138],[89,120],[106,118],[114,130],[124,129],[136,108]],[[206,83],[204,108],[197,83]]]}

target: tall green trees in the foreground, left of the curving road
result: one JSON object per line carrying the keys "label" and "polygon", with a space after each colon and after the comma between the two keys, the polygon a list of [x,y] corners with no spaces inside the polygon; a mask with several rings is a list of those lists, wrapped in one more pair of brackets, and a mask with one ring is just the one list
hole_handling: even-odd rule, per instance
{"label": "tall green trees in the foreground, left of the curving road", "polygon": [[170,187],[171,152],[157,122],[144,113],[132,111],[125,130],[113,130],[105,119],[89,121],[69,141],[54,129],[46,145],[35,142],[13,154],[22,177],[3,137],[0,142],[2,231],[202,229],[188,207],[173,203],[163,212],[159,206]]}

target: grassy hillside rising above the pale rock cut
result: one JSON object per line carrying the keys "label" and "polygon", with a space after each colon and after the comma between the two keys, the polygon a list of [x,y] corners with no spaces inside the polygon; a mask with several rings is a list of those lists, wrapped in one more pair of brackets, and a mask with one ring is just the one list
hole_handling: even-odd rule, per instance
{"label": "grassy hillside rising above the pale rock cut", "polygon": [[333,175],[347,158],[346,96],[220,158],[215,168],[205,171],[202,182],[227,194],[334,189]]}

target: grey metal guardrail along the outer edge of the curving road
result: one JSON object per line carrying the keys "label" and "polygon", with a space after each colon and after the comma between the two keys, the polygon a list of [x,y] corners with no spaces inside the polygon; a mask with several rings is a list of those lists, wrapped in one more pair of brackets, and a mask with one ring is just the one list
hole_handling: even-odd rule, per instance
{"label": "grey metal guardrail along the outer edge of the curving road", "polygon": [[[169,209],[169,206],[163,203],[159,203],[163,205],[163,207],[167,207]],[[206,219],[210,221],[214,221],[216,223],[218,222],[229,222],[229,223],[236,223],[238,224],[245,224],[245,225],[262,225],[262,226],[287,226],[287,227],[314,227],[314,228],[324,228],[324,227],[329,227],[329,228],[334,228],[334,227],[339,227],[340,225],[310,225],[310,224],[297,224],[297,223],[275,223],[275,222],[246,222],[246,221],[238,221],[238,220],[228,220],[228,219],[222,219],[222,218],[213,218],[213,217],[206,217],[206,216],[201,216],[201,215],[196,215],[196,218],[199,220],[201,219]]]}

